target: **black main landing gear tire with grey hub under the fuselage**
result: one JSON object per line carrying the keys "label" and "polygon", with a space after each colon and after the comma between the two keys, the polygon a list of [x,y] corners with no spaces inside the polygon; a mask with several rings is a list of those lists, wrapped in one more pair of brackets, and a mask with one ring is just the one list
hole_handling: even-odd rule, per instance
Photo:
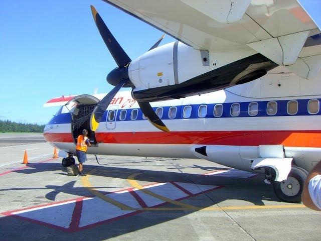
{"label": "black main landing gear tire with grey hub under the fuselage", "polygon": [[276,196],[285,202],[301,202],[301,193],[308,172],[301,167],[292,167],[286,180],[272,182]]}

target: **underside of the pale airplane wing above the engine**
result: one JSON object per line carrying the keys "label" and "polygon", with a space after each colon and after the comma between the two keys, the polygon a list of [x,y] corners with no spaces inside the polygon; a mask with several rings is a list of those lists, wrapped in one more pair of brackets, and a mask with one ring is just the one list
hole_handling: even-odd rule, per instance
{"label": "underside of the pale airplane wing above the engine", "polygon": [[254,49],[306,79],[321,68],[321,32],[296,0],[103,1],[196,49]]}

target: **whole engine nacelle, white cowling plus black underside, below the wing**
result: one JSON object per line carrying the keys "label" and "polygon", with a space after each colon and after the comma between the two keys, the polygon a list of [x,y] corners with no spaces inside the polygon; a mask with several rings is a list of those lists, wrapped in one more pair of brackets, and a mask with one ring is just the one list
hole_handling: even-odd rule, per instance
{"label": "whole engine nacelle, white cowling plus black underside, below the wing", "polygon": [[255,51],[198,50],[179,41],[152,49],[128,66],[134,99],[182,98],[257,79],[277,64]]}

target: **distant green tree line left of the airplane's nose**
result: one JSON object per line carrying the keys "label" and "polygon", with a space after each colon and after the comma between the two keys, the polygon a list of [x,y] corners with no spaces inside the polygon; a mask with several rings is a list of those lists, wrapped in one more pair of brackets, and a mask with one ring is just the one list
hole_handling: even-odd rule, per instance
{"label": "distant green tree line left of the airplane's nose", "polygon": [[43,132],[45,125],[0,120],[0,132]]}

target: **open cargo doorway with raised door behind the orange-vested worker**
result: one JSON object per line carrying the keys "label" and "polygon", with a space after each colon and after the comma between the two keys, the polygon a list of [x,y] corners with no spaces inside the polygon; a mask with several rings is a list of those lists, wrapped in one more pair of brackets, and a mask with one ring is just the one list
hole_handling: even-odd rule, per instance
{"label": "open cargo doorway with raised door behind the orange-vested worker", "polygon": [[71,133],[73,135],[74,143],[77,143],[77,137],[82,134],[84,129],[88,130],[88,138],[94,141],[93,146],[97,146],[95,132],[90,130],[90,116],[94,110],[99,99],[89,94],[81,94],[75,96],[73,99],[65,104],[70,111]]}

